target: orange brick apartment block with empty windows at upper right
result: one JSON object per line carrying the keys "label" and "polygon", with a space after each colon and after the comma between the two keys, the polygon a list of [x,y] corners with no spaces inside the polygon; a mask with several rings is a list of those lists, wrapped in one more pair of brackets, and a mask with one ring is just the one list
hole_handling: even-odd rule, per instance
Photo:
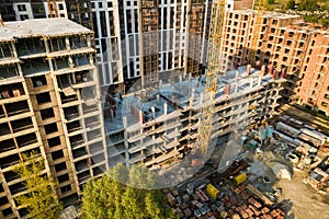
{"label": "orange brick apartment block with empty windows at upper right", "polygon": [[[257,12],[227,11],[222,53],[223,70],[250,62],[252,30]],[[261,18],[256,46],[256,68],[268,65],[273,73],[287,79],[283,101],[329,115],[329,30],[305,23],[300,15],[265,12]]]}

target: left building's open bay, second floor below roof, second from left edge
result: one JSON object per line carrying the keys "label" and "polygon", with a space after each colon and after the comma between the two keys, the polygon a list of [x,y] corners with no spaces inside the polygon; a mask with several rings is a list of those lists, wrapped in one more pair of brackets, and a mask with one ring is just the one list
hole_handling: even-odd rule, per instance
{"label": "left building's open bay, second floor below roof, second from left edge", "polygon": [[48,73],[50,71],[48,61],[43,57],[24,60],[21,67],[24,76]]}

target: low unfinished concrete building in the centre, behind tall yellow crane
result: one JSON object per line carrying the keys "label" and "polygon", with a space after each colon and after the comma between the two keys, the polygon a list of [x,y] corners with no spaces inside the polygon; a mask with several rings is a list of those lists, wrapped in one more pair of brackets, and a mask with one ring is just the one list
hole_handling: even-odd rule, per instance
{"label": "low unfinished concrete building in the centre, behind tall yellow crane", "polygon": [[[262,70],[240,67],[218,79],[214,101],[211,142],[231,131],[271,117],[279,106],[285,79]],[[205,78],[178,76],[171,83],[159,82],[158,89],[146,89],[126,95],[117,115],[105,119],[110,165],[144,163],[163,166],[196,149]]]}

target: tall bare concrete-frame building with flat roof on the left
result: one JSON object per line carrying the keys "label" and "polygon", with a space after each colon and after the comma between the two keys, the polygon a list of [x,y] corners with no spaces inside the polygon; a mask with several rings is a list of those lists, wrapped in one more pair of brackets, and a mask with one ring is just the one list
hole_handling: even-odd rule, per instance
{"label": "tall bare concrete-frame building with flat roof on the left", "polygon": [[12,171],[22,153],[45,159],[65,205],[107,170],[92,39],[66,19],[0,26],[0,218],[26,215],[14,201],[29,193]]}

